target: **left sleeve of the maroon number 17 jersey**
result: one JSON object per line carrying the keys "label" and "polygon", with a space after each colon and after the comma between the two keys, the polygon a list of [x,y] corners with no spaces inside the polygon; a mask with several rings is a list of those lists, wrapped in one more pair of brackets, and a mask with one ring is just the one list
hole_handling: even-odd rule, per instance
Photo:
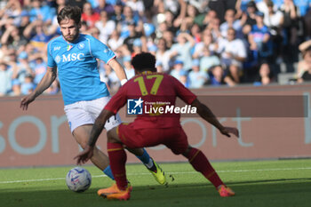
{"label": "left sleeve of the maroon number 17 jersey", "polygon": [[121,107],[124,107],[127,101],[127,86],[128,84],[124,84],[118,92],[109,100],[108,104],[104,107],[104,109],[111,111],[116,115],[118,110]]}

